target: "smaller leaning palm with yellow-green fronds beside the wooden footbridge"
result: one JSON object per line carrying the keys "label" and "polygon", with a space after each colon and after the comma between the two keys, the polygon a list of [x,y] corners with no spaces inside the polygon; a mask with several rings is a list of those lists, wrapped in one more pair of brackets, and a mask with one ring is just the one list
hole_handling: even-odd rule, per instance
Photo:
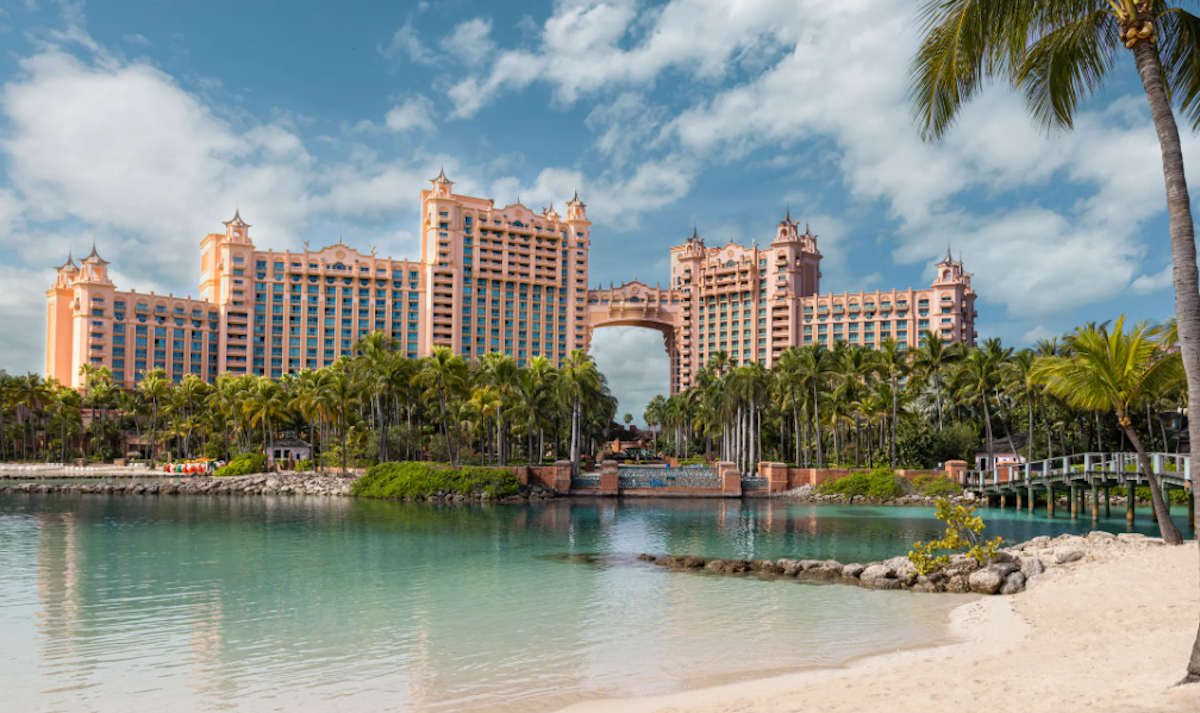
{"label": "smaller leaning palm with yellow-green fronds beside the wooden footbridge", "polygon": [[1072,355],[1039,359],[1033,377],[1073,406],[1116,413],[1117,423],[1138,451],[1138,465],[1150,481],[1163,540],[1180,545],[1183,538],[1171,521],[1158,475],[1132,420],[1147,396],[1165,390],[1181,376],[1178,352],[1160,353],[1157,336],[1158,329],[1147,322],[1139,322],[1127,332],[1122,314],[1111,328],[1091,326],[1069,336]]}

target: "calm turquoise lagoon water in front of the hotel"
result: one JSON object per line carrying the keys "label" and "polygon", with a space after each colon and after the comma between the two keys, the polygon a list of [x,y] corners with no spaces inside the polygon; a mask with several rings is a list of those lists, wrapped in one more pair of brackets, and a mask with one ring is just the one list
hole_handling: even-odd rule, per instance
{"label": "calm turquoise lagoon water in front of the hotel", "polygon": [[[1092,528],[982,513],[1010,540]],[[967,598],[634,556],[865,562],[938,531],[930,508],[749,499],[0,496],[0,709],[548,711],[838,665],[938,641]]]}

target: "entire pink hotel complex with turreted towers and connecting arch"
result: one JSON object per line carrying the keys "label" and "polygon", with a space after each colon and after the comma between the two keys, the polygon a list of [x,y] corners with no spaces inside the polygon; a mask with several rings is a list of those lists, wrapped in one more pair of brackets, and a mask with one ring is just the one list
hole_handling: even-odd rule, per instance
{"label": "entire pink hotel complex with turreted towers and connecting arch", "polygon": [[949,254],[926,289],[821,295],[816,236],[788,216],[762,248],[707,247],[694,230],[671,248],[666,288],[634,281],[589,290],[592,223],[578,196],[560,216],[458,196],[445,173],[432,184],[421,191],[419,260],[342,244],[256,250],[238,214],[200,241],[200,299],[118,290],[95,246],[78,264],[68,258],[46,292],[46,373],[73,387],[84,364],[109,367],[126,387],[154,369],[175,381],[277,378],[349,355],[372,331],[412,358],[443,346],[467,358],[558,363],[587,349],[594,329],[628,325],[662,332],[674,394],[718,350],[770,366],[791,346],[977,336],[971,275]]}

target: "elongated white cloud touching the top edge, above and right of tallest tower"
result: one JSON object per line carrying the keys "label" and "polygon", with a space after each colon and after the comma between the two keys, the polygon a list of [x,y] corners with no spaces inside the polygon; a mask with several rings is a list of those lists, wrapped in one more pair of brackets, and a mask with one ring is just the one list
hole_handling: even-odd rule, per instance
{"label": "elongated white cloud touching the top edge, above and right of tallest tower", "polygon": [[638,0],[564,0],[541,28],[535,49],[509,49],[449,91],[456,118],[469,118],[505,90],[546,82],[563,102],[624,84],[649,85],[666,70],[718,80],[731,61],[752,66],[756,50],[787,18],[800,20],[798,0],[725,2],[673,0],[646,11]]}

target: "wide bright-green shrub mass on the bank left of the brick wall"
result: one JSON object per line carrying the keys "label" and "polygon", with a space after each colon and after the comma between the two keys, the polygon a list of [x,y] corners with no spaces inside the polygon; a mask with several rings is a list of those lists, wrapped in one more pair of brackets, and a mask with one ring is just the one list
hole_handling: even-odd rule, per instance
{"label": "wide bright-green shrub mass on the bank left of the brick wall", "polygon": [[521,481],[506,468],[469,466],[454,469],[425,462],[379,463],[354,483],[365,498],[426,498],[438,493],[491,497],[517,495]]}

